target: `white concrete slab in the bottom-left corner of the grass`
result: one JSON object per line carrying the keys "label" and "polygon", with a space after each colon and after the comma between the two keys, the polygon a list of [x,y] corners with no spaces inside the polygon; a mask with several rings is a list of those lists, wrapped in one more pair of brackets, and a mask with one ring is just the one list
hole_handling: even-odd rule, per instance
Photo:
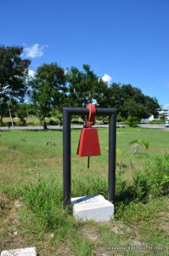
{"label": "white concrete slab in the bottom-left corner of the grass", "polygon": [[37,256],[36,247],[21,248],[9,251],[3,251],[1,256]]}

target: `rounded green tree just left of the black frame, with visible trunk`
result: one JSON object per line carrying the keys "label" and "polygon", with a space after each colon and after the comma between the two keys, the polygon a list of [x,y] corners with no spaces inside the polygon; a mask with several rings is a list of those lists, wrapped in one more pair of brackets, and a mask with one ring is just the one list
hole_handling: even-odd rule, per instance
{"label": "rounded green tree just left of the black frame, with visible trunk", "polygon": [[31,101],[42,119],[43,128],[47,129],[45,118],[50,115],[54,106],[63,104],[65,92],[65,72],[57,63],[43,64],[37,67],[37,73],[29,82],[31,85]]}

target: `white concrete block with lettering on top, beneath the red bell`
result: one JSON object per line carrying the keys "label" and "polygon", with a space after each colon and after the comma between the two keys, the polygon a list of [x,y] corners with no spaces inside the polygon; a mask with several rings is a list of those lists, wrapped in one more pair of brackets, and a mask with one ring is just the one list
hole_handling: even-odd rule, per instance
{"label": "white concrete block with lettering on top, beneath the red bell", "polygon": [[109,221],[113,218],[114,205],[102,195],[90,195],[71,198],[73,215],[81,220]]}

